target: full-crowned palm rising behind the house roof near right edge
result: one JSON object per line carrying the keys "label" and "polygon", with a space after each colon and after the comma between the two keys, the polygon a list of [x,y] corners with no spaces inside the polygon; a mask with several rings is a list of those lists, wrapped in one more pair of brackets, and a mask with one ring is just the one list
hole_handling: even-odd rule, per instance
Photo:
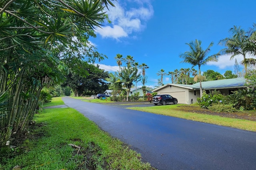
{"label": "full-crowned palm rising behind the house roof near right edge", "polygon": [[244,60],[245,73],[247,72],[248,60],[246,55],[253,55],[255,51],[252,50],[252,43],[249,41],[248,33],[244,31],[240,26],[234,26],[230,28],[229,32],[232,33],[230,37],[220,40],[220,45],[225,45],[227,48],[220,51],[221,55],[231,55],[230,60],[237,55],[242,55]]}

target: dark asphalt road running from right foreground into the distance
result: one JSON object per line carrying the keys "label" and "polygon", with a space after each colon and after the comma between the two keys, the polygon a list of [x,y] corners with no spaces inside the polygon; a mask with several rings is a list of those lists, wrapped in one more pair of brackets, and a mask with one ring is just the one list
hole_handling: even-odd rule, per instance
{"label": "dark asphalt road running from right foreground into the distance", "polygon": [[62,100],[158,170],[256,170],[254,132],[68,97]]}

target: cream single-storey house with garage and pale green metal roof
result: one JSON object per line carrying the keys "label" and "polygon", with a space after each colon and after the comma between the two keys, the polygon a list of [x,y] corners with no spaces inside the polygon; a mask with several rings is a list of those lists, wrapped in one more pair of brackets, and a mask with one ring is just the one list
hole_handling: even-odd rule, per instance
{"label": "cream single-storey house with garage and pale green metal roof", "polygon": [[[221,94],[229,95],[232,91],[246,88],[244,78],[230,78],[224,80],[214,80],[202,82],[202,89],[208,93],[210,90],[220,91]],[[200,98],[200,82],[186,85],[186,84],[166,84],[152,90],[157,94],[170,94],[171,96],[178,99],[180,104],[192,104],[196,102],[197,98]]]}

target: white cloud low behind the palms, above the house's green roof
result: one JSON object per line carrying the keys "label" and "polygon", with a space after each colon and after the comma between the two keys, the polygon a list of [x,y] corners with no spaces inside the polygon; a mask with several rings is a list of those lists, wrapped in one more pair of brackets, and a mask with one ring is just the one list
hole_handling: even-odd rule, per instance
{"label": "white cloud low behind the palms, above the house's green roof", "polygon": [[235,59],[240,64],[240,62],[244,59],[242,55],[235,56],[230,60],[231,55],[222,55],[219,57],[218,62],[209,62],[207,65],[217,66],[220,69],[225,69],[228,67],[234,67]]}

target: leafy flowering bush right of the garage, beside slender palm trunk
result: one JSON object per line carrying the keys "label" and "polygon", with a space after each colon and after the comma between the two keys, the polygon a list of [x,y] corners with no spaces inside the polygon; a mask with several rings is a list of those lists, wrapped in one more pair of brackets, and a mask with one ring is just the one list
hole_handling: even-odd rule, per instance
{"label": "leafy flowering bush right of the garage, beside slender palm trunk", "polygon": [[197,102],[199,103],[200,107],[207,109],[213,104],[222,103],[223,97],[224,96],[216,90],[211,91],[209,94],[206,94],[205,90],[203,90],[202,98],[198,98]]}

